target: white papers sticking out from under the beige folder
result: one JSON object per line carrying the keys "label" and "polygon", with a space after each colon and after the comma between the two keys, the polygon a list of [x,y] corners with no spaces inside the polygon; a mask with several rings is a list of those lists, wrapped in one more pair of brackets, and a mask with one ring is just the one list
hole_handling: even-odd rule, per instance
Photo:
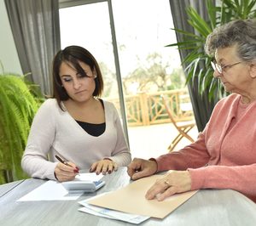
{"label": "white papers sticking out from under the beige folder", "polygon": [[[106,193],[103,193],[101,195],[104,195]],[[99,195],[97,195],[98,197]],[[147,220],[149,217],[145,217],[145,216],[140,216],[140,215],[136,215],[136,214],[130,214],[130,213],[126,213],[126,212],[119,212],[119,211],[114,211],[114,210],[110,210],[107,208],[102,208],[99,206],[93,206],[90,205],[88,203],[88,201],[92,200],[96,198],[95,197],[91,197],[89,199],[86,199],[84,201],[79,201],[79,204],[84,206],[82,208],[79,208],[80,212],[87,212],[99,217],[103,217],[103,218],[111,218],[111,219],[115,219],[115,220],[121,220],[121,221],[125,221],[125,222],[129,222],[129,223],[142,223],[143,221]]]}

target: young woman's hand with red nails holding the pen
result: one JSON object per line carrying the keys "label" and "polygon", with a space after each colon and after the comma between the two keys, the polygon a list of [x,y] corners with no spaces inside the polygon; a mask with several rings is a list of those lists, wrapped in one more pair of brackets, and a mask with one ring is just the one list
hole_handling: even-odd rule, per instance
{"label": "young woman's hand with red nails holding the pen", "polygon": [[79,173],[78,167],[76,167],[75,164],[72,162],[68,162],[68,164],[71,166],[67,166],[61,162],[57,164],[55,167],[55,178],[60,181],[69,181],[73,180],[75,176]]}

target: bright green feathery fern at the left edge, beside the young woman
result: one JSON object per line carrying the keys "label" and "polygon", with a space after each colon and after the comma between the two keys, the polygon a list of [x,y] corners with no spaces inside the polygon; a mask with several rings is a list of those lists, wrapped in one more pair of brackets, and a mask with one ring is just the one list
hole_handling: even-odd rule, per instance
{"label": "bright green feathery fern at the left edge, beside the young woman", "polygon": [[0,184],[26,177],[20,159],[39,103],[25,76],[0,75]]}

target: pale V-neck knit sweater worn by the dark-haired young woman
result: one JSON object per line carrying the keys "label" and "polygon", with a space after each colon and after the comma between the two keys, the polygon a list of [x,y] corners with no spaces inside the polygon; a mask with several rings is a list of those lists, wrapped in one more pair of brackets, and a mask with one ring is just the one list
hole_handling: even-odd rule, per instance
{"label": "pale V-neck knit sweater worn by the dark-haired young woman", "polygon": [[112,103],[103,101],[106,130],[99,137],[86,133],[77,121],[57,105],[56,99],[47,99],[32,122],[21,166],[32,178],[55,179],[54,170],[60,155],[72,161],[79,169],[108,157],[119,167],[131,162],[118,112]]}

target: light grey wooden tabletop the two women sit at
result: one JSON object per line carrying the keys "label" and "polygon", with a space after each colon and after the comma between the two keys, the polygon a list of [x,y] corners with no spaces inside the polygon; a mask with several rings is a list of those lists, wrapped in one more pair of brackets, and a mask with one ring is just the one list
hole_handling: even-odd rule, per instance
{"label": "light grey wooden tabletop the two women sit at", "polygon": [[[121,167],[118,172],[104,176],[102,179],[106,181],[106,185],[96,194],[119,189],[131,182],[126,167]],[[9,184],[10,187],[6,184],[1,185],[0,194],[3,194],[3,190],[5,193],[0,198],[0,225],[134,225],[79,212],[78,201],[95,194],[84,194],[77,201],[17,202],[20,197],[44,183],[45,180],[30,178]],[[202,189],[166,218],[162,220],[150,218],[140,225],[255,226],[256,204],[231,189]]]}

